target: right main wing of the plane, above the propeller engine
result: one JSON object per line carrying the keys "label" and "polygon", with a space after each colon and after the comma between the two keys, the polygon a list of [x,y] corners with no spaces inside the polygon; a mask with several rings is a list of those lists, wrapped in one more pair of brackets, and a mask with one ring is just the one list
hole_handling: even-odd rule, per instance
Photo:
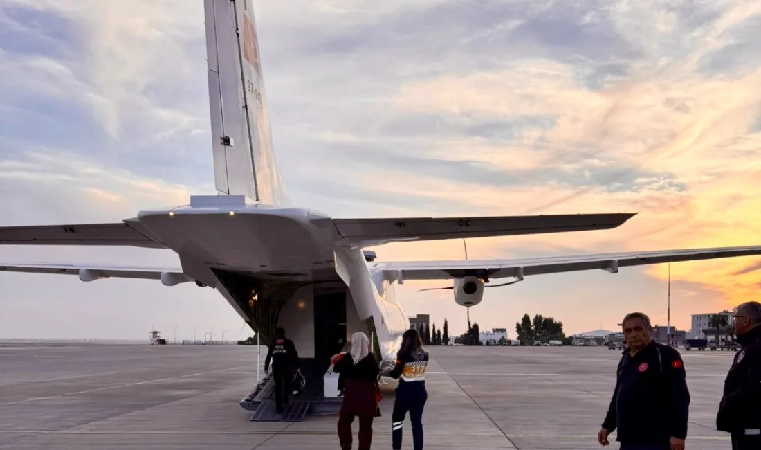
{"label": "right main wing of the plane, above the propeller engine", "polygon": [[[612,254],[588,254],[568,257],[535,257],[515,260],[411,261],[374,263],[370,267],[396,273],[404,279],[452,279],[474,275],[484,279],[545,273],[602,269],[617,273],[619,267],[678,261],[761,255],[761,246],[716,247],[692,250],[635,251]],[[488,286],[488,285],[487,285]]]}

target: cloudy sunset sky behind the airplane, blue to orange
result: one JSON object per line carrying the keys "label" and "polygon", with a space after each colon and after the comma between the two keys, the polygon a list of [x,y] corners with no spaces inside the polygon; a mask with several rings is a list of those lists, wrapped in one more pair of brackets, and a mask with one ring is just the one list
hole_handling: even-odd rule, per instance
{"label": "cloudy sunset sky behind the airplane, blue to orange", "polygon": [[[333,217],[638,212],[622,227],[473,239],[470,259],[761,244],[761,2],[255,0],[275,154]],[[118,222],[215,193],[202,0],[0,5],[0,225]],[[754,44],[755,42],[755,44]],[[379,260],[455,260],[462,241]],[[177,264],[170,251],[0,247],[14,262]],[[758,300],[761,259],[674,263],[671,324]],[[465,330],[450,282],[409,315]],[[667,266],[527,277],[471,318],[567,334],[666,323]],[[142,339],[242,321],[211,289],[0,275],[0,337]],[[176,328],[175,328],[176,327]]]}

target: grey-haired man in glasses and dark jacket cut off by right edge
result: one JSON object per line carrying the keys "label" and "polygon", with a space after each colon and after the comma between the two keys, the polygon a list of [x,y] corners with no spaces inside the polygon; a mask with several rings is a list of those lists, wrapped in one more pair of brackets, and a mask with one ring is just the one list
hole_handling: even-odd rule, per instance
{"label": "grey-haired man in glasses and dark jacket cut off by right edge", "polygon": [[761,448],[761,303],[747,302],[734,314],[740,351],[724,379],[716,428],[732,435],[733,450]]}

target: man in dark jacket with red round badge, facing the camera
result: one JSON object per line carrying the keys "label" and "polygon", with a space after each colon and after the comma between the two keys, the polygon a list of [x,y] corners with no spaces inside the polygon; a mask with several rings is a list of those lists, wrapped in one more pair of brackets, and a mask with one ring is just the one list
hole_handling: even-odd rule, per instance
{"label": "man in dark jacket with red round badge, facing the camera", "polygon": [[689,391],[682,357],[652,340],[647,315],[627,314],[621,326],[629,346],[597,441],[610,445],[608,436],[618,428],[621,450],[684,450]]}

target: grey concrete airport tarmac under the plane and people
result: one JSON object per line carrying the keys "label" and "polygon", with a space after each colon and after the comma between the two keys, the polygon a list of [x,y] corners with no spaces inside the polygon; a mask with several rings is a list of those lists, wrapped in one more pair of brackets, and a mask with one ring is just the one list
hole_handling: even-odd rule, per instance
{"label": "grey concrete airport tarmac under the plane and people", "polygon": [[[619,352],[428,350],[426,449],[600,448]],[[693,398],[686,448],[730,448],[714,422],[734,352],[681,353]],[[255,379],[250,346],[0,345],[0,449],[339,448],[336,416],[249,422],[238,401]],[[381,403],[373,448],[391,448],[392,403],[393,395]],[[403,448],[412,448],[409,423],[404,433]]]}

